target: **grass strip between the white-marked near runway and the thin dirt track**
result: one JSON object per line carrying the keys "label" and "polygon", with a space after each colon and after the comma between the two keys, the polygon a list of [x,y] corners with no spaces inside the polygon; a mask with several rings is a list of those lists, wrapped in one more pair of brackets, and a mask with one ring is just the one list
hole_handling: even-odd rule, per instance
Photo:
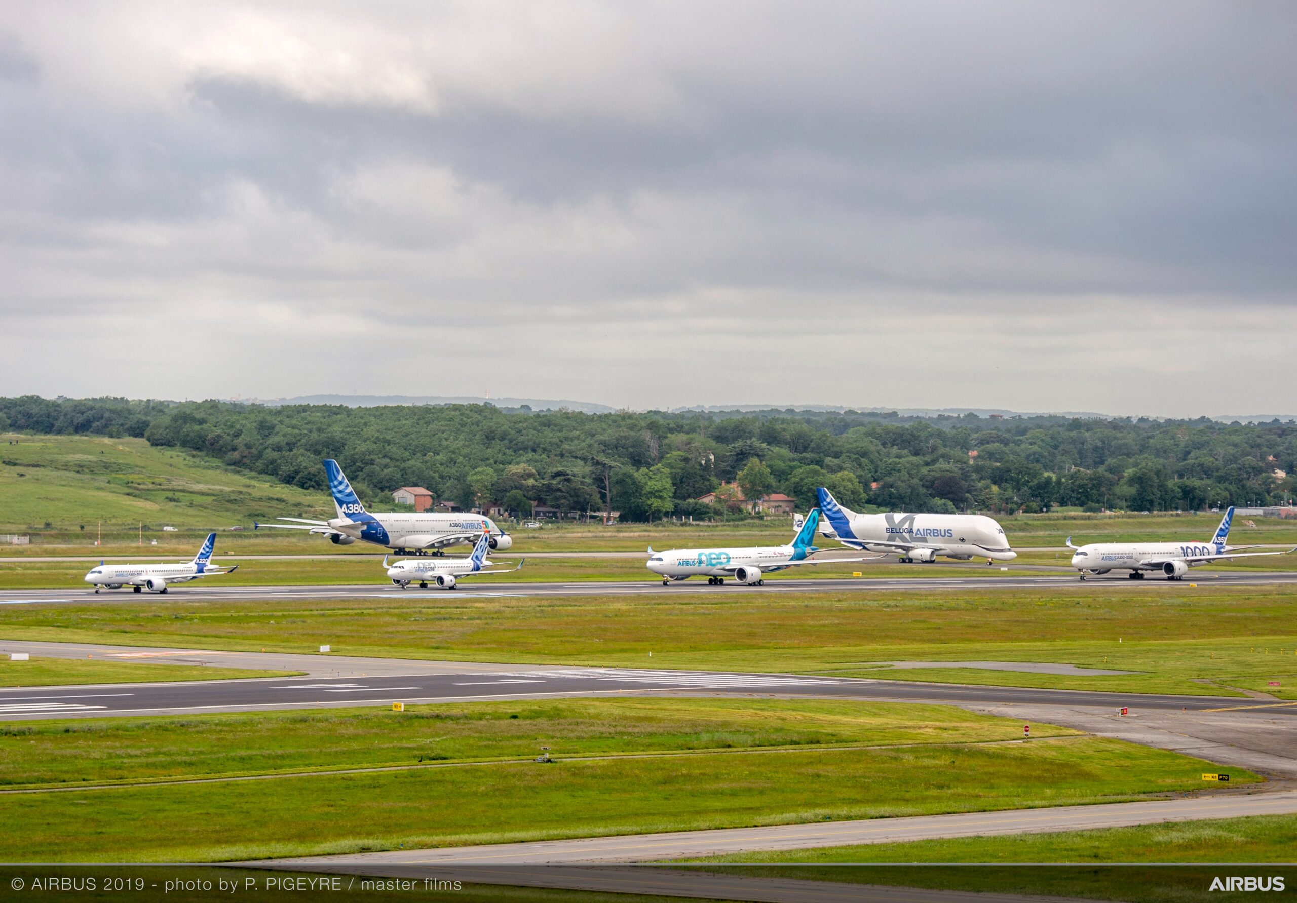
{"label": "grass strip between the white-marked near runway and the thin dirt track", "polygon": [[[1036,733],[1077,734],[1045,724]],[[0,725],[0,785],[530,759],[541,746],[571,758],[1019,738],[1017,721],[958,708],[837,701],[562,699],[112,717]]]}

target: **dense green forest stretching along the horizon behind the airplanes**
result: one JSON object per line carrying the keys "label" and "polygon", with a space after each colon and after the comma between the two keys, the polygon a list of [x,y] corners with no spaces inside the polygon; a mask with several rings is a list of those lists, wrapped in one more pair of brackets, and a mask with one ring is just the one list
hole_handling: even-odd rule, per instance
{"label": "dense green forest stretching along the horizon behind the airplanes", "polygon": [[[140,436],[305,489],[336,458],[367,503],[425,487],[516,516],[537,505],[623,520],[742,518],[829,487],[861,510],[1201,510],[1297,489],[1297,424],[1061,416],[900,416],[798,410],[530,411],[490,405],[345,407],[226,401],[0,398],[0,431]],[[725,485],[722,485],[725,484]],[[720,490],[716,503],[696,501]]]}

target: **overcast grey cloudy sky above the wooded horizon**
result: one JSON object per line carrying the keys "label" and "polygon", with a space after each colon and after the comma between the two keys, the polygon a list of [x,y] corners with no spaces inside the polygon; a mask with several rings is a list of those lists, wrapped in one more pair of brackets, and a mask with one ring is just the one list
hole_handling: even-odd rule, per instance
{"label": "overcast grey cloudy sky above the wooded horizon", "polygon": [[0,6],[0,394],[1294,413],[1297,5]]}

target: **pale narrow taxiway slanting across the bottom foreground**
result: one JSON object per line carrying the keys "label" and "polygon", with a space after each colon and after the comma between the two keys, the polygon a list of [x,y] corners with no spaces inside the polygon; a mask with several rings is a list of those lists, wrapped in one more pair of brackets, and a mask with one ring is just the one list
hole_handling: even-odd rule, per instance
{"label": "pale narrow taxiway slanting across the bottom foreground", "polygon": [[664,834],[582,837],[571,841],[493,843],[490,846],[389,850],[340,856],[279,860],[281,865],[316,865],[320,871],[344,863],[608,863],[698,859],[744,850],[808,850],[855,843],[895,843],[949,837],[1035,834],[1093,828],[1121,828],[1167,821],[1236,819],[1297,812],[1297,791],[1254,793],[1137,803],[1057,806],[1052,808],[960,812],[859,821],[812,821],[768,828],[724,828]]}

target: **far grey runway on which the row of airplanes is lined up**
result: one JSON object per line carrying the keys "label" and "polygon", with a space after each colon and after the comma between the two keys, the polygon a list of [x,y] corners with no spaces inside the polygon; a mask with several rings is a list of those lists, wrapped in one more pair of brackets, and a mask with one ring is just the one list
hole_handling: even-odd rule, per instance
{"label": "far grey runway on which the row of airplanes is lined up", "polygon": [[[940,566],[913,564],[922,568]],[[987,568],[990,571],[990,568]],[[904,590],[1003,590],[1003,589],[1088,589],[1093,592],[1112,589],[1137,589],[1161,586],[1184,590],[1192,585],[1208,586],[1297,586],[1297,571],[1205,571],[1191,573],[1184,580],[1171,581],[1158,577],[1130,580],[1126,576],[1105,575],[1079,580],[1075,572],[1051,575],[1013,576],[996,571],[986,576],[946,576],[940,571],[929,571],[923,577],[769,577],[761,586],[741,586],[726,581],[722,586],[709,586],[706,580],[693,579],[663,586],[660,580],[586,580],[581,583],[475,583],[466,579],[453,590],[405,589],[392,584],[345,584],[336,586],[220,586],[211,581],[202,585],[179,584],[166,596],[157,593],[132,593],[128,589],[102,590],[95,593],[82,586],[74,589],[5,589],[0,590],[0,605],[95,605],[140,602],[165,605],[173,599],[195,601],[309,601],[309,599],[467,599],[467,598],[546,598],[573,596],[651,596],[668,598],[671,596],[716,594],[716,593],[875,593]],[[219,580],[219,577],[214,579]]]}

